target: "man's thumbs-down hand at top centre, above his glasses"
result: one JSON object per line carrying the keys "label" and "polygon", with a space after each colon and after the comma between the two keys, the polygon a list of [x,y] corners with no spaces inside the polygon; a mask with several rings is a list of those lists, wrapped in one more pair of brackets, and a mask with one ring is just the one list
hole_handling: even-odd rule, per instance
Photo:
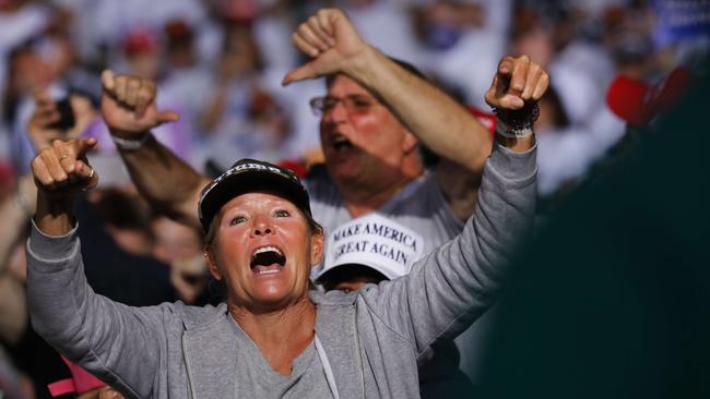
{"label": "man's thumbs-down hand at top centre, above his glasses", "polygon": [[300,24],[291,39],[313,59],[288,72],[283,84],[343,72],[368,45],[347,16],[336,9],[323,9]]}

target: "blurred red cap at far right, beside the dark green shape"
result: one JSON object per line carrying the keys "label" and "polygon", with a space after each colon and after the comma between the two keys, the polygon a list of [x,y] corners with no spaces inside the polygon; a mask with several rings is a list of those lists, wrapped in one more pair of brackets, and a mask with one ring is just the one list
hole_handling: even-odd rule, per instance
{"label": "blurred red cap at far right, beside the dark green shape", "polygon": [[606,104],[623,120],[643,126],[656,114],[672,107],[685,93],[691,80],[693,74],[684,68],[676,68],[654,85],[619,75],[606,93]]}

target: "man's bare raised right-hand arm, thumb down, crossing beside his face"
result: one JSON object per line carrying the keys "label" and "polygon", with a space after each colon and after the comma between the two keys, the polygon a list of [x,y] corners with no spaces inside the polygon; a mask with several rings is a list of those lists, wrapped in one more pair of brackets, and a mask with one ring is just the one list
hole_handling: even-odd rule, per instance
{"label": "man's bare raised right-hand arm, thumb down, crossing beside his face", "polygon": [[[452,183],[440,186],[452,207],[465,220],[475,204],[483,165],[490,154],[492,135],[451,97],[401,68],[363,41],[340,10],[320,10],[292,36],[294,45],[312,60],[291,71],[284,84],[343,73],[368,88],[434,153],[442,157],[441,173],[452,169],[464,190]],[[469,179],[461,179],[468,176]]]}

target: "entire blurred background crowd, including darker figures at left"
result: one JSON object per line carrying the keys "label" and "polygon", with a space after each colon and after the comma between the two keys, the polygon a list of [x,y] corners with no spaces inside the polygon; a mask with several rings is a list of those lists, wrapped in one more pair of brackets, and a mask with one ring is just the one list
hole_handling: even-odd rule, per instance
{"label": "entire blurred background crowd, including darker figures at left", "polygon": [[[687,4],[678,11],[674,3]],[[0,0],[0,219],[8,223],[0,233],[0,383],[19,382],[2,385],[9,397],[13,389],[46,397],[46,385],[69,374],[33,335],[23,297],[35,195],[26,174],[37,150],[58,138],[33,135],[37,94],[71,96],[70,134],[98,140],[90,160],[100,190],[78,204],[94,290],[131,305],[204,304],[218,287],[208,287],[200,232],[153,214],[131,186],[96,109],[99,75],[111,69],[157,82],[158,107],[180,120],[155,136],[204,174],[242,157],[288,160],[305,172],[323,157],[308,100],[324,83],[281,83],[303,62],[291,33],[322,7],[345,10],[365,40],[415,64],[482,121],[504,55],[529,55],[549,71],[535,123],[541,214],[624,141],[629,121],[607,105],[625,101],[625,93],[608,98],[616,76],[655,83],[678,66],[694,73],[710,48],[707,21],[699,28],[678,22],[707,16],[702,1]]]}

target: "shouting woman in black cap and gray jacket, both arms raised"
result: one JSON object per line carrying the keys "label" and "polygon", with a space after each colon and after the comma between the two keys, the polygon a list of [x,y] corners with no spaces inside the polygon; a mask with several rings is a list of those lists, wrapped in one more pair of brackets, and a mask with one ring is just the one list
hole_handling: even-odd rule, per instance
{"label": "shouting woman in black cap and gray jacket, both arms raised", "polygon": [[[520,99],[509,81],[514,65],[506,59],[498,66],[486,94],[492,106],[511,111],[505,102]],[[540,82],[525,82],[523,92],[536,92]],[[545,88],[542,82],[540,95]],[[33,325],[129,397],[419,397],[418,359],[490,305],[511,249],[531,230],[534,135],[529,118],[516,121],[499,123],[511,129],[498,131],[475,217],[463,232],[410,275],[350,294],[309,289],[323,232],[299,180],[277,166],[242,160],[213,180],[196,206],[210,271],[227,287],[217,307],[131,307],[91,290],[72,202],[97,183],[85,158],[96,141],[55,141],[32,162],[38,186],[27,244]]]}

